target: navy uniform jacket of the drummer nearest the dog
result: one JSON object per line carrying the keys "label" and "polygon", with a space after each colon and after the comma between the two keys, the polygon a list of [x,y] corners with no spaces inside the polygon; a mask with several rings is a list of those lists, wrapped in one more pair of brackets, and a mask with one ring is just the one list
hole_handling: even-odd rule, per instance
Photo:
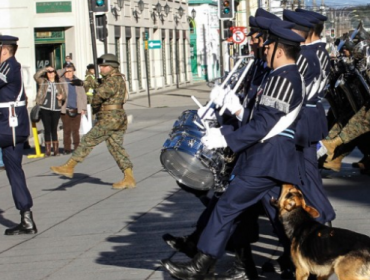
{"label": "navy uniform jacket of the drummer nearest the dog", "polygon": [[[294,139],[276,135],[260,142],[282,116],[300,106],[302,81],[295,64],[270,72],[255,100],[252,119],[225,136],[227,145],[239,158],[234,175],[270,177],[299,184],[298,158]],[[296,122],[289,129],[294,134]]]}

